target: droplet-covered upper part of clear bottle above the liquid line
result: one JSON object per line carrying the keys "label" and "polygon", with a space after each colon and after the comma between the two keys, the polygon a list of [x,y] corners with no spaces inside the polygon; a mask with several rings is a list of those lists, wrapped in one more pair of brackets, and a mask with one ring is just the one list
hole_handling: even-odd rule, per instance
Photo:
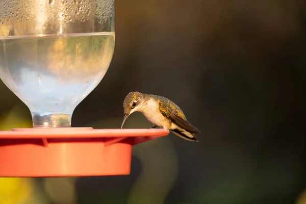
{"label": "droplet-covered upper part of clear bottle above the liquid line", "polygon": [[0,36],[112,32],[114,0],[2,0]]}

